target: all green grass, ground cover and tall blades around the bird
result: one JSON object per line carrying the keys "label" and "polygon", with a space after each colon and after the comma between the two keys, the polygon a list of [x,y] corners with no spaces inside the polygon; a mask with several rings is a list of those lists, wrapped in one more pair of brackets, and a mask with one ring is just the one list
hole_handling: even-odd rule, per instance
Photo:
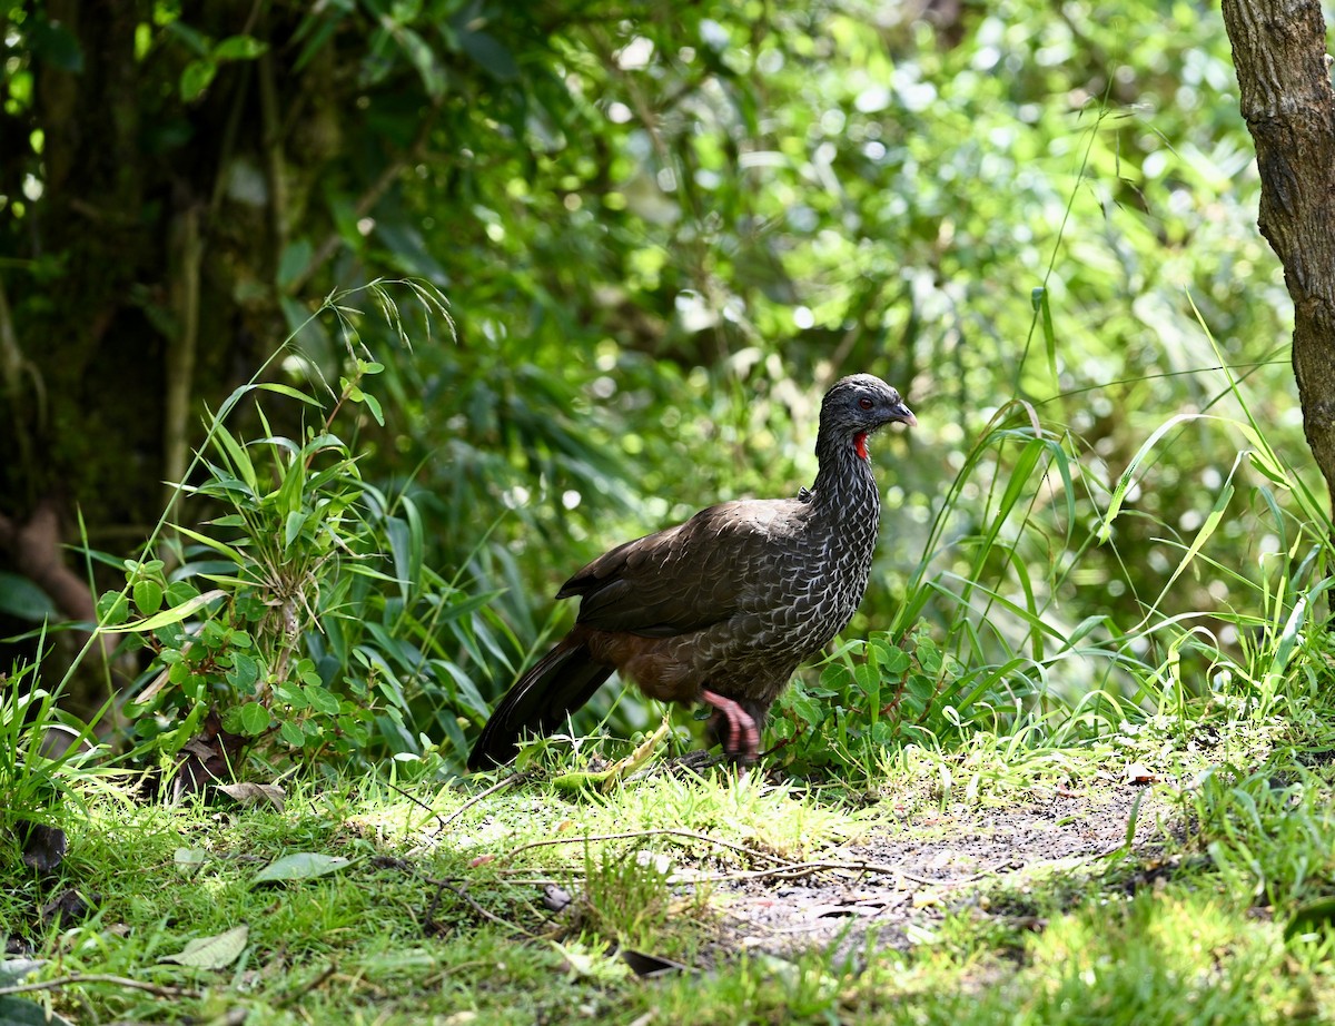
{"label": "all green grass, ground cover and tall blades around the bird", "polygon": [[[166,564],[127,565],[108,609],[131,616],[132,597],[140,619],[123,633],[179,656],[143,684],[188,671],[179,701],[138,715],[136,767],[172,765],[222,696],[256,739],[238,775],[280,778],[284,804],[210,788],[170,806],[99,752],[48,759],[36,741],[57,713],[40,689],[20,693],[35,669],[15,675],[0,707],[0,934],[40,965],[0,967],[0,1019],[40,1005],[89,1023],[1320,1021],[1335,998],[1328,522],[1232,381],[1226,394],[1238,417],[1164,423],[1107,486],[1071,433],[1004,409],[922,522],[921,560],[890,582],[894,617],[785,695],[769,776],[659,761],[606,794],[591,755],[639,737],[541,743],[521,778],[451,772],[486,708],[474,671],[507,659],[491,596],[431,578],[414,597],[413,504],[387,513],[352,481],[351,448],[307,478],[275,446],[283,485],[244,492],[268,518],[238,530],[271,540],[282,524],[290,545],[331,552],[351,540],[392,568],[339,576],[312,558],[323,629],[304,648],[284,635],[278,657],[260,629],[275,594],[240,548],[235,572],[196,568],[239,589],[211,600],[198,637]],[[1137,489],[1188,423],[1248,449],[1193,534],[1153,524],[1164,562],[1145,573],[1119,532],[1153,522]],[[232,477],[258,482],[255,457],[231,449]],[[326,509],[322,489],[368,497],[366,516],[303,541],[308,521],[284,504]],[[1274,537],[1255,565],[1216,560],[1230,518]],[[1218,580],[1228,603],[1185,604]],[[1111,601],[1112,584],[1117,615],[1089,615],[1101,600],[1081,589]],[[260,659],[272,673],[240,673]],[[300,727],[286,745],[266,689]],[[254,723],[235,712],[247,705]],[[21,860],[29,822],[68,836],[53,872]],[[292,856],[312,871],[260,879]],[[785,902],[792,915],[770,923]],[[666,971],[637,975],[647,963]]]}

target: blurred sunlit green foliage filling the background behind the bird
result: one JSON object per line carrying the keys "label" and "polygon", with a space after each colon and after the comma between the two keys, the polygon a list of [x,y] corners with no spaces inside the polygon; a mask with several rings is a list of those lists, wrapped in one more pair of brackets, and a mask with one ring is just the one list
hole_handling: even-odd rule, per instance
{"label": "blurred sunlit green foliage filling the background behind the bird", "polygon": [[[100,59],[56,9],[12,3],[4,20],[5,126],[27,131],[0,160],[17,254],[0,270],[28,330],[89,274],[73,242],[21,242],[56,192],[41,76]],[[885,532],[849,637],[908,644],[924,624],[980,695],[1077,701],[1111,680],[1100,653],[1157,665],[1151,613],[1199,613],[1227,648],[1244,639],[1212,613],[1262,609],[1283,576],[1307,514],[1288,481],[1252,488],[1266,474],[1239,453],[1250,415],[1306,462],[1288,301],[1255,227],[1216,11],[256,9],[143,5],[136,60],[158,90],[136,103],[155,156],[127,174],[171,170],[214,196],[211,309],[268,349],[296,331],[292,383],[350,371],[339,322],[307,321],[332,290],[391,275],[449,297],[457,335],[411,298],[388,321],[347,313],[384,365],[358,470],[419,513],[423,566],[501,592],[509,636],[478,653],[493,689],[586,558],[809,482],[822,387],[856,370],[897,385],[922,426],[877,440]],[[278,136],[247,135],[263,103]],[[152,269],[136,273],[171,281]],[[135,295],[170,321],[151,287]],[[1144,440],[1203,411],[1218,417],[1184,417],[1135,461],[1105,525]],[[1207,521],[1230,572],[1183,573]],[[646,719],[631,705],[629,721]]]}

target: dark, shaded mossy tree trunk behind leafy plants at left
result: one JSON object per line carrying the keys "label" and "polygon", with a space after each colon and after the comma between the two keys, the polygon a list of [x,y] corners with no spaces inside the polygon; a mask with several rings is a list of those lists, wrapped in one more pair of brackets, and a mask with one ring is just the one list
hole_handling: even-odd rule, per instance
{"label": "dark, shaded mossy tree trunk behind leafy plants at left", "polygon": [[[203,37],[246,35],[270,52],[298,24],[251,0],[187,7]],[[95,549],[134,552],[164,482],[184,473],[204,407],[286,334],[279,226],[336,147],[303,146],[296,160],[282,150],[338,95],[326,48],[300,75],[286,69],[282,108],[267,53],[219,63],[184,98],[196,53],[146,52],[144,0],[47,0],[29,17],[64,49],[36,53],[23,116],[0,112],[0,194],[21,204],[4,211],[0,262],[0,569],[87,621],[93,592],[63,545],[80,541],[81,522]],[[25,627],[0,619],[0,637]],[[101,668],[88,669],[64,700],[80,712],[105,697]]]}

